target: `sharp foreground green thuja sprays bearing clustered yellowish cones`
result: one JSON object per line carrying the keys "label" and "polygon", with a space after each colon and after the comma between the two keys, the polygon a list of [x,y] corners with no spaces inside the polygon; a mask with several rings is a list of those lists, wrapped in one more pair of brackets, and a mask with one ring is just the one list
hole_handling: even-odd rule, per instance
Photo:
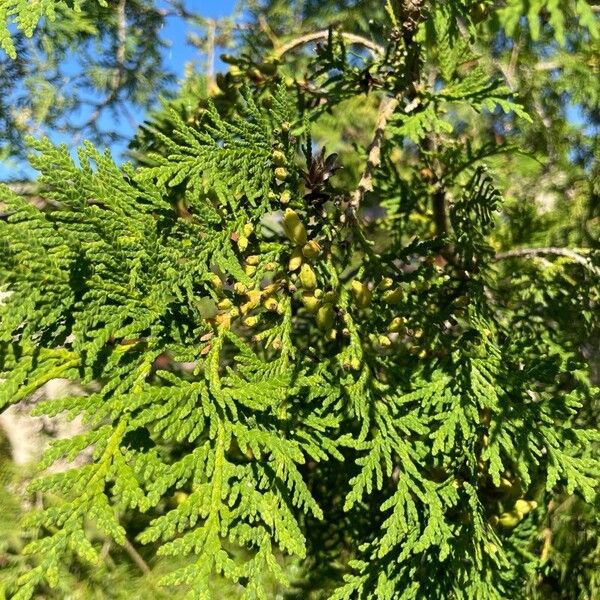
{"label": "sharp foreground green thuja sprays bearing clustered yellowish cones", "polygon": [[[330,30],[300,84],[282,53],[230,58],[145,166],[30,141],[47,207],[0,192],[0,406],[57,377],[88,393],[34,409],[86,429],[30,484],[10,597],[101,564],[90,524],[172,557],[178,597],[535,597],[549,512],[597,502],[573,332],[597,327],[600,261],[507,241],[493,166],[523,153],[498,131],[531,117],[472,4],[388,3],[387,46]],[[365,97],[344,176],[314,132]]]}

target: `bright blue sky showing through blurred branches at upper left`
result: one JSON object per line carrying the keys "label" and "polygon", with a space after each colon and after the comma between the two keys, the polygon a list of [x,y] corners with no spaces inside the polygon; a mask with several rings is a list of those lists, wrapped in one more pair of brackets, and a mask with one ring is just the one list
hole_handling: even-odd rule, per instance
{"label": "bright blue sky showing through blurred branches at upper left", "polygon": [[[185,0],[185,6],[189,10],[200,13],[203,17],[207,18],[218,18],[228,16],[234,13],[236,9],[236,0]],[[158,0],[157,6],[159,8],[165,7],[166,2],[164,0]],[[202,60],[202,56],[198,54],[198,51],[186,43],[186,33],[189,31],[189,26],[182,19],[176,17],[167,17],[165,27],[162,32],[164,40],[169,42],[169,47],[163,52],[163,61],[165,68],[174,73],[178,79],[183,76],[184,66],[186,62],[191,60]],[[219,51],[217,51],[216,68],[222,67],[222,63],[218,60]],[[77,71],[77,57],[71,56],[66,62],[67,68]],[[129,107],[131,108],[131,107]],[[145,113],[141,110],[133,108],[130,110],[134,120],[137,124],[143,122]],[[78,114],[78,122],[85,122],[89,113],[82,110]],[[109,114],[109,111],[105,111],[103,116],[98,120],[99,125],[103,129],[118,129],[120,133],[127,137],[131,137],[135,131],[134,127],[126,119],[115,122],[114,118]],[[47,132],[50,138],[55,142],[65,142],[71,145],[72,139],[64,135],[59,135],[56,132]],[[116,143],[110,146],[111,151],[116,158],[120,157],[121,152],[125,148],[126,143]],[[35,172],[27,166],[24,162],[15,164],[14,162],[0,163],[0,180],[14,179],[14,178],[29,178],[33,176]]]}

